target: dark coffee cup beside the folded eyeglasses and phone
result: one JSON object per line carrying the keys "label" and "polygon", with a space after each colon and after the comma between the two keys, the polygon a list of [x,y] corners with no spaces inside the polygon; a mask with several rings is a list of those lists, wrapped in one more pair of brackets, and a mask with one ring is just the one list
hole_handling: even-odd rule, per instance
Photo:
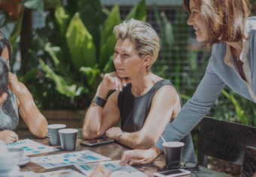
{"label": "dark coffee cup beside the folded eyeglasses and phone", "polygon": [[164,146],[164,156],[167,168],[179,168],[184,143],[173,141],[162,143],[162,145]]}

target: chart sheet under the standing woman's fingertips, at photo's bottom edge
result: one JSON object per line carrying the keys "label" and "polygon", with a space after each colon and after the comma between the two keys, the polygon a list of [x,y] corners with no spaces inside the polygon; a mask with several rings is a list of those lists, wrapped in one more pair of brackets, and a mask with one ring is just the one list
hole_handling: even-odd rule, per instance
{"label": "chart sheet under the standing woman's fingertips, at photo's bottom edge", "polygon": [[[111,172],[110,177],[119,177],[119,176],[125,176],[125,177],[134,177],[134,176],[140,176],[140,177],[146,177],[146,175],[139,170],[135,169],[134,167],[131,167],[129,165],[121,166],[119,165],[120,161],[104,161],[104,169],[107,169]],[[92,164],[75,164],[74,167],[76,167],[78,170],[80,170],[83,174],[86,176],[92,175],[92,172],[97,167],[98,163],[92,163]]]}

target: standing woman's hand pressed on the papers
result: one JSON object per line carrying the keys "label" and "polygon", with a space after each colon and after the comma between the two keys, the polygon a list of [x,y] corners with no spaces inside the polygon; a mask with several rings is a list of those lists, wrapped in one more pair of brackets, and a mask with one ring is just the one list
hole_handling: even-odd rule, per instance
{"label": "standing woman's hand pressed on the papers", "polygon": [[135,149],[131,151],[122,152],[120,165],[140,165],[150,164],[155,160],[155,155],[151,149]]}

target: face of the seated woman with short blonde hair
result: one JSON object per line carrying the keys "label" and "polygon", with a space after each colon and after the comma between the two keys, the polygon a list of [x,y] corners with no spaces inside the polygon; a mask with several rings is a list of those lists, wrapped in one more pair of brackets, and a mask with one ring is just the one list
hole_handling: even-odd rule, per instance
{"label": "face of the seated woman with short blonde hair", "polygon": [[135,50],[134,43],[129,40],[117,40],[113,62],[116,67],[116,74],[120,78],[137,75],[144,66],[143,59],[139,57],[137,50]]}

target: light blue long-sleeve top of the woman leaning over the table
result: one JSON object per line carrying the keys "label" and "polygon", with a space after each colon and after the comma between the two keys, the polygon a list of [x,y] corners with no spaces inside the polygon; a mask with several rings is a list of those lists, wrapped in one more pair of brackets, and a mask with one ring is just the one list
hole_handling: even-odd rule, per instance
{"label": "light blue long-sleeve top of the woman leaning over the table", "polygon": [[[256,17],[249,17],[245,28],[248,40],[242,40],[239,59],[244,63],[242,68],[247,81],[241,78],[236,68],[230,46],[227,43],[214,44],[206,73],[194,96],[164,130],[166,141],[179,141],[185,137],[212,108],[226,84],[236,93],[256,102]],[[160,138],[155,146],[164,151],[162,143]]]}

